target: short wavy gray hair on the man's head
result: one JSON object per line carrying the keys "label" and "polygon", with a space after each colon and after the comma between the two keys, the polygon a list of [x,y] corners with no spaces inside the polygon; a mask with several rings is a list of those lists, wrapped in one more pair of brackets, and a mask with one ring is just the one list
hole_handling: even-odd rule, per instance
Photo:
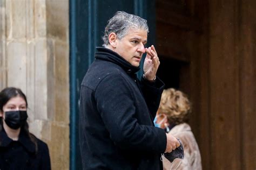
{"label": "short wavy gray hair on the man's head", "polygon": [[147,20],[140,18],[139,16],[126,13],[124,11],[118,11],[108,22],[105,27],[105,33],[103,36],[103,46],[109,45],[109,34],[116,33],[118,39],[122,39],[130,28],[143,29],[149,32],[149,26],[147,26]]}

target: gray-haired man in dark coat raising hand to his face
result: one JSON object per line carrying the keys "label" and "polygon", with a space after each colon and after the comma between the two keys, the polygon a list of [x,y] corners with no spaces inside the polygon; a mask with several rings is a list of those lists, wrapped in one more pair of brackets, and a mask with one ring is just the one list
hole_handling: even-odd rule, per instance
{"label": "gray-haired man in dark coat raising hand to his face", "polygon": [[107,23],[104,47],[97,47],[80,90],[83,169],[163,169],[161,153],[180,145],[153,125],[164,83],[156,76],[156,49],[145,47],[148,32],[145,19],[123,11]]}

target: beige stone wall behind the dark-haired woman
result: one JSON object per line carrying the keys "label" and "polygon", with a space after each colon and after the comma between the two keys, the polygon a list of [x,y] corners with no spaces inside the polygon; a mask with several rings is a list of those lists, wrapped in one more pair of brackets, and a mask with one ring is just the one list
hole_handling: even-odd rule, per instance
{"label": "beige stone wall behind the dark-haired woman", "polygon": [[52,169],[69,169],[69,1],[0,0],[0,38],[0,88],[23,90]]}

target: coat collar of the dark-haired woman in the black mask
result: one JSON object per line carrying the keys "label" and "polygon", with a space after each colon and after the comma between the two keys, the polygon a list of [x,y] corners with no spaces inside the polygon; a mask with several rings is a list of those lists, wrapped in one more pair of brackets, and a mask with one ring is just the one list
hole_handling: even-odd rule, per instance
{"label": "coat collar of the dark-haired woman in the black mask", "polygon": [[[0,147],[8,147],[10,143],[14,141],[7,136],[3,127],[2,131],[0,131],[0,140]],[[30,140],[29,136],[24,132],[24,130],[21,130],[21,132],[19,133],[18,142],[21,143],[28,152],[35,153],[35,144]]]}

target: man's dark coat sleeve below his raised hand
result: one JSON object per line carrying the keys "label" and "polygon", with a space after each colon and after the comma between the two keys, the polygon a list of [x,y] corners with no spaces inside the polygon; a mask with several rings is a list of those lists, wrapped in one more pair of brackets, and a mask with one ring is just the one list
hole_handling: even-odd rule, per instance
{"label": "man's dark coat sleeve below his raised hand", "polygon": [[152,118],[156,117],[156,113],[160,104],[161,94],[164,90],[164,82],[161,81],[158,77],[156,82],[150,83],[149,81],[141,79],[141,86],[143,96],[147,103],[147,107],[150,110]]}

